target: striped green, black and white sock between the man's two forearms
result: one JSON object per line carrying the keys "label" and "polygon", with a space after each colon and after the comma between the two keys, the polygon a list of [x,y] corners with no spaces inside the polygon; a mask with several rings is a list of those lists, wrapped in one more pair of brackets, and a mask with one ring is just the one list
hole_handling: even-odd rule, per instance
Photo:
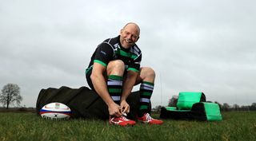
{"label": "striped green, black and white sock between the man's two forearms", "polygon": [[107,88],[114,103],[119,105],[122,94],[122,76],[108,76]]}

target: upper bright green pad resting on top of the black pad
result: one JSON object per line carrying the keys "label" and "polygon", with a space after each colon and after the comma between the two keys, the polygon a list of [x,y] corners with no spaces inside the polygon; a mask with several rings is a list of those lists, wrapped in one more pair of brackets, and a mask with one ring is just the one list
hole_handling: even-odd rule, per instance
{"label": "upper bright green pad resting on top of the black pad", "polygon": [[178,110],[190,110],[192,105],[198,102],[206,102],[203,92],[179,92],[177,108]]}

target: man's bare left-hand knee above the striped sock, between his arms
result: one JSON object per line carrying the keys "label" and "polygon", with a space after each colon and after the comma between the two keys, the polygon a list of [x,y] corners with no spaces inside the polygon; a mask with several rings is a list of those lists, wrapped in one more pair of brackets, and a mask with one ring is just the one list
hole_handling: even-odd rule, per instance
{"label": "man's bare left-hand knee above the striped sock, between his arms", "polygon": [[121,60],[110,61],[107,65],[107,73],[108,75],[121,75],[125,71],[125,64]]}

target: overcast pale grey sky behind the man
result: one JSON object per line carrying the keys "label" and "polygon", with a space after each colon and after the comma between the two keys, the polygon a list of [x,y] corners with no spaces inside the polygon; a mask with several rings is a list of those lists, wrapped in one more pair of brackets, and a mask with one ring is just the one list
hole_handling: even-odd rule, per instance
{"label": "overcast pale grey sky behind the man", "polygon": [[42,88],[88,87],[84,71],[94,49],[135,22],[142,66],[157,76],[153,107],[179,92],[250,105],[255,6],[251,0],[0,0],[0,88],[18,84],[21,105],[35,107]]}

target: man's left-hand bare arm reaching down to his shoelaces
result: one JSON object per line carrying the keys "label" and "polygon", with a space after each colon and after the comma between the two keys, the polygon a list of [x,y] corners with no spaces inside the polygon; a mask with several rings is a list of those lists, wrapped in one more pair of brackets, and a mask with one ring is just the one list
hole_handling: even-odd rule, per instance
{"label": "man's left-hand bare arm reaching down to his shoelaces", "polygon": [[109,108],[110,116],[122,116],[120,112],[120,106],[115,104],[112,100],[110,93],[107,90],[106,80],[103,76],[103,73],[106,71],[106,67],[98,63],[94,63],[94,67],[90,76],[92,83],[94,84],[94,89],[99,96],[102,97],[102,100],[106,103]]}

